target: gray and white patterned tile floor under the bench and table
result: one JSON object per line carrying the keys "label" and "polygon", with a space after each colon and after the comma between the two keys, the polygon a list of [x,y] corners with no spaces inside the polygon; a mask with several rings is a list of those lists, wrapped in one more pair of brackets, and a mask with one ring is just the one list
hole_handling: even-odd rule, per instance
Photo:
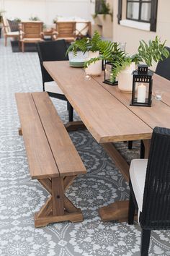
{"label": "gray and white patterned tile floor under the bench and table", "polygon": [[[129,189],[115,164],[86,131],[70,133],[87,174],[77,177],[68,190],[68,197],[82,209],[84,221],[35,229],[33,213],[48,198],[48,192],[30,179],[24,142],[17,133],[14,93],[42,90],[40,66],[36,53],[12,53],[0,40],[0,67],[0,255],[140,255],[138,223],[103,223],[99,218],[99,207],[128,200]],[[66,122],[66,103],[53,103]],[[138,158],[138,142],[133,150],[123,142],[117,147],[128,161]],[[169,237],[170,231],[152,232],[149,255],[170,255]]]}

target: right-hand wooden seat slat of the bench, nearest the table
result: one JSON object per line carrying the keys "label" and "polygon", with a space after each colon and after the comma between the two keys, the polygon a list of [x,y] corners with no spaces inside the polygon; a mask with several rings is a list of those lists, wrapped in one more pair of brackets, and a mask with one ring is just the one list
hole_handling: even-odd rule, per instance
{"label": "right-hand wooden seat slat of the bench, nearest the table", "polygon": [[53,152],[60,176],[86,174],[86,168],[71,141],[48,93],[32,93],[42,126]]}

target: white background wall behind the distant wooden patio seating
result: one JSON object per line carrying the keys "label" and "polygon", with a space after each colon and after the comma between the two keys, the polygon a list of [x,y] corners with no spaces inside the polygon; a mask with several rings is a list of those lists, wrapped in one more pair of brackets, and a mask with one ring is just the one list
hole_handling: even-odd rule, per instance
{"label": "white background wall behind the distant wooden patio seating", "polygon": [[21,20],[28,20],[30,16],[37,16],[47,25],[57,15],[92,21],[94,6],[94,0],[0,0],[0,9],[6,10],[6,17],[9,19],[19,17]]}

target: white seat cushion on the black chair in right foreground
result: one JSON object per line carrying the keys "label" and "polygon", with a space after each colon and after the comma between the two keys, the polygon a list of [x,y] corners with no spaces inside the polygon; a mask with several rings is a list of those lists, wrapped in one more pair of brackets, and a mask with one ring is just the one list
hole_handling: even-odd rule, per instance
{"label": "white seat cushion on the black chair in right foreground", "polygon": [[147,164],[148,159],[133,159],[130,163],[130,179],[140,212],[142,212],[143,207],[143,192],[146,182]]}

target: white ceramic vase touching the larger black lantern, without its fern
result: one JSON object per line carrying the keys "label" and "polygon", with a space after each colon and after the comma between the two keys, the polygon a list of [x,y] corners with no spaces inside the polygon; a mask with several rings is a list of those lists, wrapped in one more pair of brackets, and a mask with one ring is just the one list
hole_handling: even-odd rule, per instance
{"label": "white ceramic vase touching the larger black lantern, without its fern", "polygon": [[118,88],[124,93],[131,93],[133,91],[133,74],[135,70],[135,62],[126,67],[118,75]]}

